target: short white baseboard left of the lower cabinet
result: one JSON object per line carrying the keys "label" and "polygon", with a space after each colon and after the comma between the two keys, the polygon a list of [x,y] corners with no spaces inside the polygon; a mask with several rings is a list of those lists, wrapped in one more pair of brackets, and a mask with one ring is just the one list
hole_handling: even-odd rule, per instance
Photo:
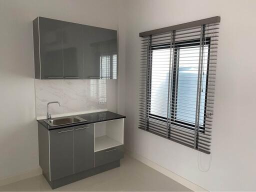
{"label": "short white baseboard left of the lower cabinet", "polygon": [[26,179],[26,178],[29,178],[29,177],[32,177],[32,176],[37,176],[37,175],[40,175],[40,174],[42,174],[42,169],[40,167],[38,167],[38,168],[32,169],[30,171],[27,171],[27,172],[24,172],[24,173],[21,173],[21,174],[17,174],[17,175],[14,175],[14,176],[10,176],[10,177],[7,177],[7,178],[0,179],[0,186],[5,185],[5,184],[10,184],[12,182],[16,182],[16,181],[19,181],[19,180],[23,180],[23,179]]}

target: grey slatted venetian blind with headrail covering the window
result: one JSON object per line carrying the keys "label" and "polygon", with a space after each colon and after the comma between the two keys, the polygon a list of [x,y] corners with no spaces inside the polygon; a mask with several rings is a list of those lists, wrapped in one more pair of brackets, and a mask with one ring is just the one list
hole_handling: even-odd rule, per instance
{"label": "grey slatted venetian blind with headrail covering the window", "polygon": [[139,124],[210,153],[220,17],[140,33]]}

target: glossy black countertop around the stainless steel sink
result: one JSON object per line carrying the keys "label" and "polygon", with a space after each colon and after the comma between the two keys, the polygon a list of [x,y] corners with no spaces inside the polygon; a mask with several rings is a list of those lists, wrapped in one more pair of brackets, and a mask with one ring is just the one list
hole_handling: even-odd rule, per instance
{"label": "glossy black countertop around the stainless steel sink", "polygon": [[[71,115],[74,116],[74,115]],[[52,129],[58,129],[58,128],[64,128],[64,127],[69,127],[69,126],[75,126],[75,125],[82,125],[82,124],[91,124],[95,122],[102,122],[106,120],[114,120],[118,118],[125,118],[125,116],[110,112],[110,111],[101,111],[101,112],[92,112],[92,113],[86,113],[86,114],[77,114],[75,116],[79,116],[87,121],[85,122],[76,122],[72,124],[64,124],[64,125],[59,125],[59,126],[50,126],[48,125],[44,119],[42,120],[37,120],[37,122],[41,123],[45,128],[48,130]]]}

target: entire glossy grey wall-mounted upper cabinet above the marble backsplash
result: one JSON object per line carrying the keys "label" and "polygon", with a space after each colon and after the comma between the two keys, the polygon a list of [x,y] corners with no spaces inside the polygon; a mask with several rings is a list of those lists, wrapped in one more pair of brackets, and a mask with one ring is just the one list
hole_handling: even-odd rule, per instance
{"label": "entire glossy grey wall-mounted upper cabinet above the marble backsplash", "polygon": [[116,79],[116,30],[44,17],[33,20],[38,79]]}

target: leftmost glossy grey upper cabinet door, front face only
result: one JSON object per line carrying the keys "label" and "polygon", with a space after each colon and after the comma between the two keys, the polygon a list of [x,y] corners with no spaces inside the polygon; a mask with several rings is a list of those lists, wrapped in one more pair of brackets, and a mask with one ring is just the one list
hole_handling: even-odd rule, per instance
{"label": "leftmost glossy grey upper cabinet door, front face only", "polygon": [[42,79],[63,77],[62,22],[39,17],[40,69]]}

